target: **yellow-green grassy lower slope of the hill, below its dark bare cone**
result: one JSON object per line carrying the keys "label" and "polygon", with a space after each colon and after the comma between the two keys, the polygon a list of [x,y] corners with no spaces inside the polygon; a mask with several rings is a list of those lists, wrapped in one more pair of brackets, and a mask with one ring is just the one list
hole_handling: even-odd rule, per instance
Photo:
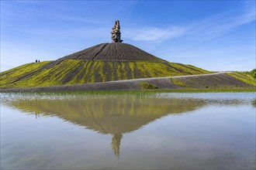
{"label": "yellow-green grassy lower slope of the hill, below its dark bare cone", "polygon": [[67,59],[51,66],[50,62],[29,63],[0,73],[0,87],[47,87],[63,84],[95,83],[157,76],[210,73],[180,63],[150,61],[115,62]]}

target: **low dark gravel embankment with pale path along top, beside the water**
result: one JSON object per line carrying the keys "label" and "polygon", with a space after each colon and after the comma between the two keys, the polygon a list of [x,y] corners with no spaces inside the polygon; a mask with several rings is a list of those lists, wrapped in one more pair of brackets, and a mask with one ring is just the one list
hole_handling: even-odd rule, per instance
{"label": "low dark gravel embankment with pale path along top, beside the water", "polygon": [[54,87],[1,88],[0,92],[49,92],[62,90],[144,90],[140,82],[152,84],[160,90],[178,89],[241,89],[255,88],[251,84],[237,80],[227,73],[212,73],[189,76],[168,76],[133,80],[117,80],[102,83],[84,83]]}

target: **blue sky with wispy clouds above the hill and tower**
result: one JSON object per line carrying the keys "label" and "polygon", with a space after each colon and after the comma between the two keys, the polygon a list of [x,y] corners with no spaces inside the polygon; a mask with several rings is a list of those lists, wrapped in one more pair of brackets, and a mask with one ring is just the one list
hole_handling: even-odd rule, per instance
{"label": "blue sky with wispy clouds above the hill and tower", "polygon": [[1,71],[124,42],[206,70],[255,68],[255,1],[1,1]]}

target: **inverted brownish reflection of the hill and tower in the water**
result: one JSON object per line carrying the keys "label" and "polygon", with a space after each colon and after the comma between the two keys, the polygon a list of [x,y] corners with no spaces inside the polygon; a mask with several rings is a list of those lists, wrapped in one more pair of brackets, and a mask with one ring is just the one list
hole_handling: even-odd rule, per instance
{"label": "inverted brownish reflection of the hill and tower in the water", "polygon": [[112,134],[112,149],[119,157],[122,134],[168,114],[182,114],[206,104],[205,100],[136,97],[82,99],[9,100],[10,107],[23,112],[61,117],[101,134]]}

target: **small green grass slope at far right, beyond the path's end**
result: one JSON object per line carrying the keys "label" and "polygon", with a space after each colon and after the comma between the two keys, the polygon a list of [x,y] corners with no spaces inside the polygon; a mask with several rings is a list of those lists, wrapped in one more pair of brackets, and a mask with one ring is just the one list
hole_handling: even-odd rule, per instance
{"label": "small green grass slope at far right, beyond the path's end", "polygon": [[244,83],[256,86],[256,78],[254,78],[254,75],[252,75],[250,72],[234,72],[227,74],[233,76],[237,80],[243,81]]}

